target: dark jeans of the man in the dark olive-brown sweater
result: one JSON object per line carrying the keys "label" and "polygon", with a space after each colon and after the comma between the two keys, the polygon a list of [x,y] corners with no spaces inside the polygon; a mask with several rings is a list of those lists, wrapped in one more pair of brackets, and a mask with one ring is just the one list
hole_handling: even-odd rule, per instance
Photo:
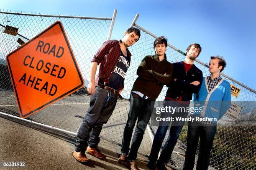
{"label": "dark jeans of the man in the dark olive-brown sweater", "polygon": [[131,150],[128,155],[128,161],[130,162],[135,161],[137,158],[138,148],[141,145],[144,132],[150,120],[151,113],[154,108],[153,106],[154,100],[151,100],[150,98],[145,99],[145,96],[140,97],[139,95],[131,92],[130,110],[128,114],[128,120],[123,131],[123,142],[121,149],[122,155],[128,155],[131,137],[133,134],[133,128],[138,118],[136,130],[133,135]]}

